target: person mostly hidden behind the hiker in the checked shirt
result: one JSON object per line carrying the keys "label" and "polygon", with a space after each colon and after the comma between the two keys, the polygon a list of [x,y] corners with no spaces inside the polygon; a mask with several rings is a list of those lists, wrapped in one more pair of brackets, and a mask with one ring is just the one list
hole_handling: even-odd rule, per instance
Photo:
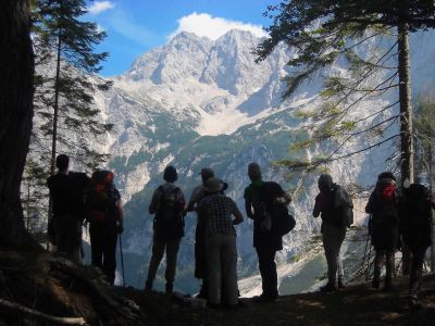
{"label": "person mostly hidden behind the hiker in the checked shirt", "polygon": [[[199,202],[208,195],[206,190],[206,181],[214,177],[213,170],[204,167],[201,170],[202,184],[197,186],[192,191],[187,205],[187,212],[197,211]],[[200,228],[199,223],[195,229],[195,277],[202,279],[201,289],[198,298],[209,298],[209,277],[207,272],[207,254],[204,231]]]}

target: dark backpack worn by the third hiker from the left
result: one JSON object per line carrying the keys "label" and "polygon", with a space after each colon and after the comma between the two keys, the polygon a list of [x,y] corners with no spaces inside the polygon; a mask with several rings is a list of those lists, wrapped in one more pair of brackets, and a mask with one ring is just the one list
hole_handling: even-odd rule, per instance
{"label": "dark backpack worn by the third hiker from the left", "polygon": [[178,187],[165,189],[163,186],[158,188],[160,192],[159,206],[154,217],[154,230],[158,236],[167,239],[184,236],[184,203],[177,201]]}

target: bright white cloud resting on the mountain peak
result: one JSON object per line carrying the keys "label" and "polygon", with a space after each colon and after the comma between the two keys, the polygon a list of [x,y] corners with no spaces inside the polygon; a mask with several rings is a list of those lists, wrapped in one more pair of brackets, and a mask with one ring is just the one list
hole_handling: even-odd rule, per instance
{"label": "bright white cloud resting on the mountain peak", "polygon": [[212,40],[217,39],[231,29],[251,32],[258,37],[266,36],[261,25],[246,24],[221,17],[213,17],[208,13],[191,13],[178,20],[178,27],[167,37],[173,38],[182,32],[190,32],[198,36],[206,36]]}

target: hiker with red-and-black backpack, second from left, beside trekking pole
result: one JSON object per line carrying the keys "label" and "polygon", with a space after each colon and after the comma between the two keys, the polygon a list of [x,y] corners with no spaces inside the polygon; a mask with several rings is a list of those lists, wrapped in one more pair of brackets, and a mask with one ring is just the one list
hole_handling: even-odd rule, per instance
{"label": "hiker with red-and-black backpack, second from left, beside trekking pole", "polygon": [[110,284],[115,280],[117,235],[124,230],[121,195],[113,179],[110,171],[94,172],[86,196],[91,265],[100,267]]}

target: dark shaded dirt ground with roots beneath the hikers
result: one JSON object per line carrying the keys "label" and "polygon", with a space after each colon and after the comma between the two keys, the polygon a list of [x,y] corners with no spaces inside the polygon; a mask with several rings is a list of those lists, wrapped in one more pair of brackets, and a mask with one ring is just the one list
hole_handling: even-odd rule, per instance
{"label": "dark shaded dirt ground with roots beneath the hikers", "polygon": [[[111,287],[98,271],[64,266],[47,253],[0,249],[0,299],[61,317],[83,317],[87,325],[435,325],[435,276],[426,276],[423,308],[407,305],[408,279],[391,292],[369,284],[334,293],[284,296],[274,303],[241,299],[239,309],[192,309],[157,292]],[[90,281],[89,281],[90,280]],[[61,325],[0,304],[0,325]]]}

